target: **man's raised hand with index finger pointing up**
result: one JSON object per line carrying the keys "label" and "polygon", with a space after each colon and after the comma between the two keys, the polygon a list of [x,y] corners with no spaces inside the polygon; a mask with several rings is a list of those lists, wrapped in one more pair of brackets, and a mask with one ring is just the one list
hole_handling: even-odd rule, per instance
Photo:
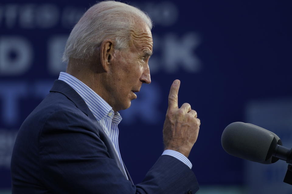
{"label": "man's raised hand with index finger pointing up", "polygon": [[169,91],[163,140],[165,150],[171,149],[188,157],[198,138],[200,119],[197,119],[197,112],[191,109],[189,103],[178,107],[179,85],[180,81],[176,79]]}

